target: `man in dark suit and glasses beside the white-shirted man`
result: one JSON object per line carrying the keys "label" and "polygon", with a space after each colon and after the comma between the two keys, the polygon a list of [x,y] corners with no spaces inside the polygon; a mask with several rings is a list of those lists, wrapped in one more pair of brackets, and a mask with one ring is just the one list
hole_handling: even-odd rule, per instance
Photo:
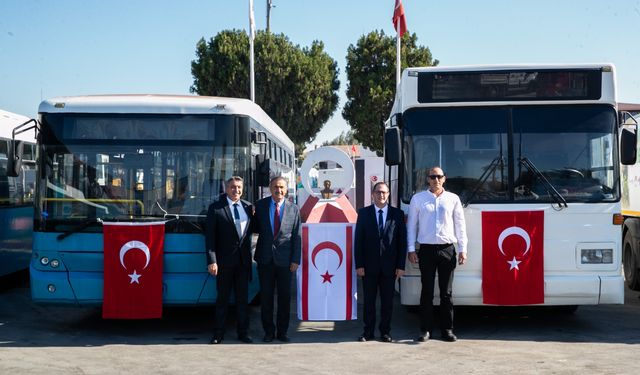
{"label": "man in dark suit and glasses beside the white-shirted man", "polygon": [[404,274],[407,228],[404,213],[388,204],[389,186],[373,186],[373,204],[358,210],[355,234],[356,272],[364,292],[364,332],[358,341],[374,339],[376,298],[380,291],[380,338],[391,342],[391,311],[395,280]]}

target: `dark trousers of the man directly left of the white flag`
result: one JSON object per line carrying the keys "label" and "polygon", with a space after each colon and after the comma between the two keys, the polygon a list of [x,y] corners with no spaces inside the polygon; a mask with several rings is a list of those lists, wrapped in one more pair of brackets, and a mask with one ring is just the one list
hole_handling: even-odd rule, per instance
{"label": "dark trousers of the man directly left of the white flag", "polygon": [[[286,335],[289,329],[291,307],[291,280],[293,273],[289,267],[258,265],[260,279],[260,303],[262,328],[268,335]],[[277,294],[278,311],[273,323],[273,299]],[[277,331],[276,331],[277,329]]]}

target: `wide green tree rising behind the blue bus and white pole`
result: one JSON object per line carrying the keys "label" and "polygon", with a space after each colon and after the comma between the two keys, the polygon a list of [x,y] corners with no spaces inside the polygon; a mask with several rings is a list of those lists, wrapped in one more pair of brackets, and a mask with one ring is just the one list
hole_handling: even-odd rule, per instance
{"label": "wide green tree rising behind the blue bus and white pole", "polygon": [[[338,64],[314,41],[293,45],[283,34],[258,32],[254,42],[256,103],[284,130],[300,154],[338,106]],[[191,62],[198,95],[249,97],[249,37],[225,30],[200,39]]]}

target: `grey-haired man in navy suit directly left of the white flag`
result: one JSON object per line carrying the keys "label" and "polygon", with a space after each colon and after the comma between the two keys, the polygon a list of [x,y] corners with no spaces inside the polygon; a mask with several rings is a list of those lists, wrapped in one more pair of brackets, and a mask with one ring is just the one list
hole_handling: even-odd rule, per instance
{"label": "grey-haired man in navy suit directly left of the white flag", "polygon": [[[289,342],[291,281],[302,251],[300,211],[285,201],[287,181],[283,177],[271,179],[269,190],[271,197],[256,202],[254,217],[254,232],[258,233],[254,259],[260,278],[263,341],[277,338]],[[278,295],[276,324],[273,323],[274,294]]]}

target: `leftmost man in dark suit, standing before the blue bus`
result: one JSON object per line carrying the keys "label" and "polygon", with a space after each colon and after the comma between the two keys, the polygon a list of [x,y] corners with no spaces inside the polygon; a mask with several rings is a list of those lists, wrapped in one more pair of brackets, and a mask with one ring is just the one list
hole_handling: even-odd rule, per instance
{"label": "leftmost man in dark suit, standing before the blue bus", "polygon": [[238,340],[251,343],[248,295],[251,278],[251,221],[253,207],[241,200],[243,181],[233,176],[225,184],[225,194],[209,206],[205,242],[207,269],[216,277],[216,325],[212,344],[224,339],[227,305],[235,291]]}

